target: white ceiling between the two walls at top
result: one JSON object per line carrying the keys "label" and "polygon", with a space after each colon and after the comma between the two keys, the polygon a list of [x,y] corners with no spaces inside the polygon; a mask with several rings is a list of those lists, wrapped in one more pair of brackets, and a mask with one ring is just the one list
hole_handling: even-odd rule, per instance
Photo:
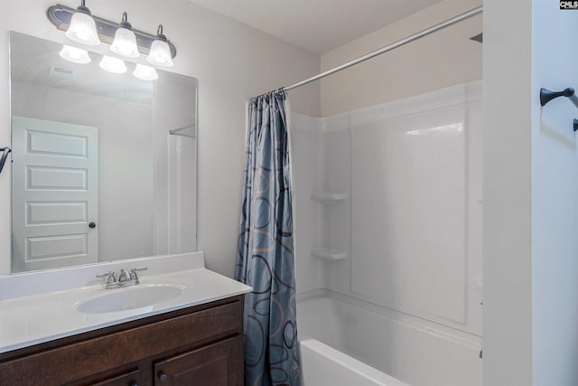
{"label": "white ceiling between the two walls at top", "polygon": [[190,0],[322,54],[441,0]]}

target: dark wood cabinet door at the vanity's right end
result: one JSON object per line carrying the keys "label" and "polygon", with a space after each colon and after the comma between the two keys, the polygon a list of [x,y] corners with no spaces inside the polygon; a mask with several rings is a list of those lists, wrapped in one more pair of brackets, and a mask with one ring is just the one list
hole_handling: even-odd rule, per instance
{"label": "dark wood cabinet door at the vanity's right end", "polygon": [[154,376],[155,386],[241,386],[243,338],[229,338],[155,362]]}

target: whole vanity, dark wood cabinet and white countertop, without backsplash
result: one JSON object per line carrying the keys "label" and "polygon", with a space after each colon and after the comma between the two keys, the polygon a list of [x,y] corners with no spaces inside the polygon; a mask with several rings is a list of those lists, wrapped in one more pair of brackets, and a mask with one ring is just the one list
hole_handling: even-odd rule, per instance
{"label": "whole vanity, dark wood cabinet and white countertop, without backsplash", "polygon": [[[181,292],[154,305],[98,303],[117,307],[130,291],[167,286]],[[242,385],[248,290],[202,267],[134,288],[98,283],[0,301],[0,385]]]}

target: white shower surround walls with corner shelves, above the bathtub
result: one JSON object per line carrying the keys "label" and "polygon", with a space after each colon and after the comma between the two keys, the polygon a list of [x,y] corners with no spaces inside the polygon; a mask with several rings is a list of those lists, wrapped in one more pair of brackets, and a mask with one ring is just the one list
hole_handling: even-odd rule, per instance
{"label": "white shower surround walls with corner shelves, above the bathtub", "polygon": [[298,292],[481,336],[481,83],[311,122],[292,153]]}

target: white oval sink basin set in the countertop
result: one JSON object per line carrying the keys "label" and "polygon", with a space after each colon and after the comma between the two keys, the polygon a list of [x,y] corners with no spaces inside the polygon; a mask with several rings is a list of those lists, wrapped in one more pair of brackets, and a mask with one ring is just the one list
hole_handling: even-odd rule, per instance
{"label": "white oval sink basin set in the countertop", "polygon": [[182,295],[182,287],[174,285],[136,285],[107,291],[110,293],[79,303],[77,309],[85,314],[119,312],[154,306]]}

